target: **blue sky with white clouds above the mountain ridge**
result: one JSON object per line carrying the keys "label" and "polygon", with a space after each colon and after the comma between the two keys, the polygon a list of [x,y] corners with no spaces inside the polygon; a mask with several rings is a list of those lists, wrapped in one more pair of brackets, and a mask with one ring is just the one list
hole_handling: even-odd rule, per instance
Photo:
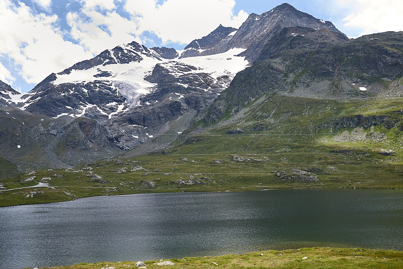
{"label": "blue sky with white clouds above the mountain ridge", "polygon": [[[182,49],[218,25],[238,28],[270,0],[0,0],[0,80],[27,92],[51,73],[133,40]],[[349,37],[403,31],[401,0],[287,1]]]}

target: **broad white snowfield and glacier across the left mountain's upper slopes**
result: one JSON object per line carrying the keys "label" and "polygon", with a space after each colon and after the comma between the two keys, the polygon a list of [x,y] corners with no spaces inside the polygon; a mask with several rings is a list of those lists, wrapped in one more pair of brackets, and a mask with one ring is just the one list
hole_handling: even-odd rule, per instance
{"label": "broad white snowfield and glacier across the left mountain's upper slopes", "polygon": [[[235,32],[236,31],[233,33],[235,34]],[[245,69],[249,64],[249,62],[245,60],[245,57],[236,56],[244,50],[245,49],[242,48],[233,48],[227,52],[215,55],[181,59],[175,58],[172,60],[157,58],[155,55],[149,56],[141,54],[143,60],[140,62],[101,64],[87,70],[72,70],[70,74],[57,74],[56,80],[53,81],[52,84],[57,86],[64,83],[86,84],[96,81],[111,82],[113,83],[113,88],[126,98],[129,107],[132,107],[139,103],[139,99],[142,95],[149,94],[153,87],[157,85],[156,83],[150,83],[145,80],[145,77],[152,73],[156,64],[162,64],[170,71],[170,75],[176,77],[188,73],[209,73],[215,80],[223,75],[228,75],[233,78],[236,73]],[[178,54],[180,55],[181,52],[182,51],[178,51]],[[182,64],[195,66],[196,69],[183,71],[181,68],[178,68],[178,66]],[[107,76],[103,77],[102,74],[107,74]],[[186,84],[181,86],[187,87]],[[223,87],[225,86],[223,85]],[[82,87],[82,90],[85,91],[85,88]],[[71,92],[73,93],[74,91],[71,90]],[[85,109],[86,108],[83,108],[83,112],[80,115],[84,115]],[[114,114],[116,113],[118,113],[118,111],[114,112]]]}

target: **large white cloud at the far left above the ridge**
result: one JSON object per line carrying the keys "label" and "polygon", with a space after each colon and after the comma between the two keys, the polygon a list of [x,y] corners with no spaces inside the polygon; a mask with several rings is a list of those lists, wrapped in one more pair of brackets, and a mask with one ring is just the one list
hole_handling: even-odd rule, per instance
{"label": "large white cloud at the far left above the ridge", "polygon": [[[0,2],[0,53],[8,55],[19,66],[27,83],[39,83],[52,72],[59,72],[93,55],[81,46],[64,41],[56,28],[57,16],[33,15],[23,3]],[[4,66],[3,66],[4,67]],[[7,70],[2,77],[12,80]]]}

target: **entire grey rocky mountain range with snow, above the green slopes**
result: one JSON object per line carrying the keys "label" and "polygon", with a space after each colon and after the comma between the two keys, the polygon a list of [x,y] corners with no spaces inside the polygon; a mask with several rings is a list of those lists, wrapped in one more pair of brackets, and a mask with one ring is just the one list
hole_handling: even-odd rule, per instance
{"label": "entire grey rocky mountain range with snow, above the green slopes", "polygon": [[[2,91],[1,156],[21,170],[74,167],[166,151],[205,130],[195,122],[215,124],[262,95],[372,98],[387,84],[394,96],[400,40],[399,33],[349,40],[331,22],[283,4],[251,14],[239,29],[220,25],[183,50],[122,44],[50,74],[27,94]],[[37,146],[22,152],[20,143],[14,152],[15,133]]]}

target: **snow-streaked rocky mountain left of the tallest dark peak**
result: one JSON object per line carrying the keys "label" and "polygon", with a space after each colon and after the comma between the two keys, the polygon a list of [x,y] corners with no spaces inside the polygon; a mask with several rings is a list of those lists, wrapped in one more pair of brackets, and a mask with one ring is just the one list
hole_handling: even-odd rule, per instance
{"label": "snow-streaked rocky mountain left of the tallest dark peak", "polygon": [[[36,157],[30,158],[36,166],[23,161],[23,155],[12,158],[28,167],[71,167],[83,160],[111,158],[133,148],[141,153],[166,147],[245,68],[248,62],[244,57],[235,56],[241,51],[179,58],[181,51],[149,49],[131,42],[50,74],[27,94],[19,94],[16,100],[20,102],[15,105],[53,122],[46,132],[54,135],[46,134],[42,142],[53,152],[26,148],[31,149],[32,156],[47,156],[53,165]],[[17,118],[14,110],[7,112],[11,117],[4,120]],[[34,122],[42,128],[39,125],[43,122]],[[16,126],[10,129],[18,130]],[[161,134],[163,142],[149,143]],[[21,136],[22,140],[36,139],[29,132]],[[11,139],[7,136],[7,140]],[[14,149],[14,144],[2,147]]]}

